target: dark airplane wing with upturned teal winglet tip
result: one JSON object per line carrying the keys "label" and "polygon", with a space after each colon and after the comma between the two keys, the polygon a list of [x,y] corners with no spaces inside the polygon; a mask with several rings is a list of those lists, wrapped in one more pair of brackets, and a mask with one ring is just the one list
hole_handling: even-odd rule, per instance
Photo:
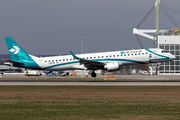
{"label": "dark airplane wing with upturned teal winglet tip", "polygon": [[74,59],[79,60],[80,64],[84,64],[87,70],[104,69],[105,64],[103,62],[82,59],[82,58],[77,57],[73,52],[70,51],[70,53],[74,57]]}

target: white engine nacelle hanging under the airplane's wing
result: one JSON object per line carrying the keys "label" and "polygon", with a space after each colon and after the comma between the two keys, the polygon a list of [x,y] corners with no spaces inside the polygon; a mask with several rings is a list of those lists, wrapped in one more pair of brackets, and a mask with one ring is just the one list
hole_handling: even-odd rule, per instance
{"label": "white engine nacelle hanging under the airplane's wing", "polygon": [[104,69],[106,69],[108,72],[118,71],[119,70],[119,63],[118,62],[107,63],[104,66]]}

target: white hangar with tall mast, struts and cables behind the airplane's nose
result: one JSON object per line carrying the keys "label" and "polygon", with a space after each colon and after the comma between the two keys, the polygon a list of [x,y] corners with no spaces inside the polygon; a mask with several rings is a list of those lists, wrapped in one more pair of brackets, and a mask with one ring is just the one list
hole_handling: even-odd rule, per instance
{"label": "white hangar with tall mast, struts and cables behind the airplane's nose", "polygon": [[[145,21],[149,14],[155,9],[155,29],[139,29],[140,25]],[[160,29],[160,10],[170,20],[173,26],[180,28],[180,24],[176,21],[170,12],[180,16],[180,10],[170,5],[160,3],[160,0],[156,0],[155,6],[147,13],[136,28],[133,29],[133,34],[136,35],[140,46],[143,48],[138,35],[144,36],[154,41],[155,48],[161,48],[170,52],[176,56],[176,60],[169,62],[162,62],[161,64],[151,65],[153,71],[156,71],[157,75],[180,75],[180,30],[174,27],[171,30]],[[163,26],[165,27],[165,26]],[[154,36],[150,34],[154,34]]]}

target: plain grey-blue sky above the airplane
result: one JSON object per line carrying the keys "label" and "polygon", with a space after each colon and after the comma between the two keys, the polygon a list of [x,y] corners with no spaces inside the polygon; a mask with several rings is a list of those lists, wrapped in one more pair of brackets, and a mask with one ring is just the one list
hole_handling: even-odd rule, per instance
{"label": "plain grey-blue sky above the airplane", "polygon": [[[180,9],[180,0],[161,2]],[[154,4],[155,0],[1,0],[0,54],[8,54],[4,37],[12,37],[33,55],[81,53],[82,33],[84,53],[140,49],[133,28]],[[174,27],[160,12],[160,28]],[[155,28],[155,11],[140,28]],[[153,40],[140,39],[144,48],[154,47]]]}

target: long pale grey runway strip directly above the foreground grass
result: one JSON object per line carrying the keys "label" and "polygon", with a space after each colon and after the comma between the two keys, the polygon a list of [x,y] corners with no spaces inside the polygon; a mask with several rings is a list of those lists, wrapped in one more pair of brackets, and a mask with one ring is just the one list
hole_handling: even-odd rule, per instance
{"label": "long pale grey runway strip directly above the foreground grass", "polygon": [[1,85],[7,86],[180,86],[180,82],[47,82],[47,81],[9,81],[0,82]]}

